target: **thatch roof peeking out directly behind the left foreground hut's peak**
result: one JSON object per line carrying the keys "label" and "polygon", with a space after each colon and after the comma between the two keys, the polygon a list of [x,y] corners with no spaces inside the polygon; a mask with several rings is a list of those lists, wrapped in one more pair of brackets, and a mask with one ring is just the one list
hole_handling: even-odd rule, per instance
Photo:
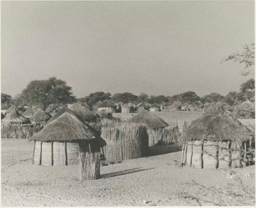
{"label": "thatch roof peeking out directly behind the left foreground hut's peak", "polygon": [[81,106],[79,103],[73,104],[69,109],[79,116],[84,122],[96,121],[96,119],[99,118],[98,114]]}

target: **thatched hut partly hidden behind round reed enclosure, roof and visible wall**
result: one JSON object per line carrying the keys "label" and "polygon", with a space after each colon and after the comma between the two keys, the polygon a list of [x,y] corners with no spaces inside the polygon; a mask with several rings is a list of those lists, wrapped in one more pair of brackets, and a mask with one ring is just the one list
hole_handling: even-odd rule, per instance
{"label": "thatched hut partly hidden behind round reed enclosure, roof and visible wall", "polygon": [[143,123],[147,125],[148,146],[166,144],[167,133],[165,127],[168,126],[163,119],[147,110],[140,111],[137,115],[129,119],[129,122]]}

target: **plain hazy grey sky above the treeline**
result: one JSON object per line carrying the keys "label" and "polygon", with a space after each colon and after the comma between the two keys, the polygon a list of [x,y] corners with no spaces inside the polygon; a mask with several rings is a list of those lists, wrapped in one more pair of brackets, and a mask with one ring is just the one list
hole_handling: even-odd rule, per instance
{"label": "plain hazy grey sky above the treeline", "polygon": [[56,76],[91,92],[238,91],[220,62],[254,42],[254,2],[1,2],[2,92]]}

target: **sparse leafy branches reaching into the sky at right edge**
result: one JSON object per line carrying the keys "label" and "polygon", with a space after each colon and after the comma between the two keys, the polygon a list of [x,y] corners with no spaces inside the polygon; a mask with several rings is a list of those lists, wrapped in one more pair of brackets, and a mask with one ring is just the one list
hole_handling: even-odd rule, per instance
{"label": "sparse leafy branches reaching into the sky at right edge", "polygon": [[243,46],[244,51],[241,53],[233,53],[229,55],[224,61],[234,61],[244,64],[245,68],[241,71],[242,76],[247,76],[250,73],[250,66],[255,65],[255,44],[251,43],[250,45],[245,44]]}

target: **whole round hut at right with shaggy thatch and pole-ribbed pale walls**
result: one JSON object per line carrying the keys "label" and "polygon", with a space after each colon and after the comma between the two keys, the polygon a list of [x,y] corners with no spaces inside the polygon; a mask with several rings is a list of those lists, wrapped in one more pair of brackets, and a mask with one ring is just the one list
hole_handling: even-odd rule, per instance
{"label": "whole round hut at right with shaggy thatch and pole-ribbed pale walls", "polygon": [[[181,137],[181,164],[197,168],[241,167],[247,160],[248,129],[224,114],[205,114]],[[244,149],[243,149],[244,148]]]}

